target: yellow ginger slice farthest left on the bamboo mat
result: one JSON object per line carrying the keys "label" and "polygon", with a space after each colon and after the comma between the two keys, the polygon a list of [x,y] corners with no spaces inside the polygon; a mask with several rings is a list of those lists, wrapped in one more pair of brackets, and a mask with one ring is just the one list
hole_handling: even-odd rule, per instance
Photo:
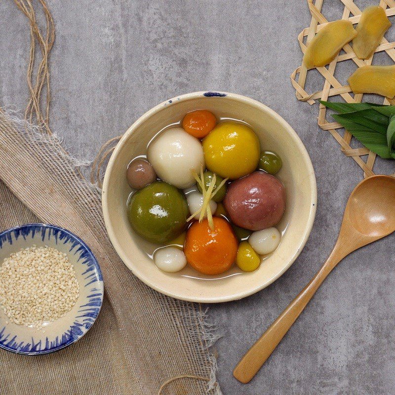
{"label": "yellow ginger slice farthest left on the bamboo mat", "polygon": [[329,22],[310,41],[303,64],[308,68],[322,67],[330,63],[344,45],[356,37],[350,21],[340,19]]}

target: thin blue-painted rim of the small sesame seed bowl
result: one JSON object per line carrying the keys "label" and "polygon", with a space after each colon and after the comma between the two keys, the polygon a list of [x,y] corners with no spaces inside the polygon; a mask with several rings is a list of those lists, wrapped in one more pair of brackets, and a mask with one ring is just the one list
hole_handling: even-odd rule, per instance
{"label": "thin blue-painted rim of the small sesame seed bowl", "polygon": [[[27,356],[39,356],[39,355],[52,354],[52,353],[54,353],[56,351],[63,350],[65,348],[71,346],[72,344],[76,343],[79,339],[81,339],[83,336],[85,336],[85,334],[89,331],[89,329],[92,327],[92,325],[96,322],[96,319],[97,319],[97,317],[100,314],[100,311],[101,311],[101,308],[102,308],[102,305],[103,305],[103,298],[104,298],[104,281],[103,281],[103,274],[102,274],[102,271],[100,269],[99,262],[97,261],[96,257],[93,255],[93,252],[87,246],[87,244],[83,240],[81,240],[77,235],[75,235],[73,232],[70,232],[69,230],[67,230],[65,228],[62,228],[60,226],[57,226],[57,225],[45,224],[45,223],[32,223],[32,224],[24,224],[24,225],[19,225],[19,226],[15,226],[13,228],[6,229],[5,231],[0,233],[0,249],[1,249],[1,246],[2,246],[1,239],[6,234],[11,233],[11,232],[15,232],[17,230],[21,230],[23,228],[31,228],[31,227],[41,227],[41,228],[44,227],[44,228],[47,228],[47,229],[55,229],[57,231],[64,232],[67,235],[69,235],[70,237],[74,238],[83,247],[83,249],[88,253],[88,255],[90,256],[91,262],[93,263],[93,266],[95,267],[95,269],[97,271],[97,275],[98,275],[99,281],[101,281],[101,284],[102,284],[101,285],[101,288],[102,288],[101,291],[102,292],[101,292],[101,297],[100,297],[100,299],[101,299],[100,300],[100,306],[98,306],[97,313],[94,313],[94,314],[92,314],[90,316],[92,318],[92,321],[87,326],[85,326],[84,332],[81,335],[79,335],[76,338],[74,338],[72,341],[67,341],[67,342],[61,343],[58,346],[52,347],[52,348],[47,349],[47,350],[44,349],[42,351],[31,351],[31,352],[17,351],[17,350],[14,350],[12,348],[6,347],[6,346],[4,346],[3,344],[0,343],[0,349],[9,351],[10,353],[20,354],[20,355],[27,355]],[[9,240],[9,239],[7,238],[7,240]],[[1,332],[0,332],[0,335],[1,335]]]}

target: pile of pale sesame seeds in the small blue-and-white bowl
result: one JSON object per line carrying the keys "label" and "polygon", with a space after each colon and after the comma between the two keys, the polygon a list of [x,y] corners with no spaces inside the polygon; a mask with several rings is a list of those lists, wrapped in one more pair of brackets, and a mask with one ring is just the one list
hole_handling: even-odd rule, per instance
{"label": "pile of pale sesame seeds in the small blue-and-white bowl", "polygon": [[74,266],[55,248],[21,249],[0,267],[0,306],[15,324],[44,332],[43,324],[65,316],[78,298]]}

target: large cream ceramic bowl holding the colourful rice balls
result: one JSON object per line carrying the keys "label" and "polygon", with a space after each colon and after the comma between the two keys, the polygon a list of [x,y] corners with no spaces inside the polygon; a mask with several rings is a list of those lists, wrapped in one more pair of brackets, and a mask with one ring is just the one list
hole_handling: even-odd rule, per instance
{"label": "large cream ceramic bowl holding the colourful rice balls", "polygon": [[[125,172],[131,159],[147,152],[159,130],[180,121],[192,110],[206,109],[217,118],[235,118],[251,125],[262,150],[275,151],[283,161],[277,177],[286,188],[286,211],[276,226],[282,240],[262,258],[258,270],[242,273],[236,265],[220,276],[203,276],[188,265],[164,273],[150,255],[158,246],[137,236],[126,215],[131,189]],[[316,213],[316,178],[310,157],[292,127],[273,110],[248,97],[224,92],[195,92],[167,100],[148,111],[126,131],[109,161],[102,204],[110,239],[125,265],[150,287],[177,299],[225,302],[251,295],[272,283],[294,262],[311,232]]]}

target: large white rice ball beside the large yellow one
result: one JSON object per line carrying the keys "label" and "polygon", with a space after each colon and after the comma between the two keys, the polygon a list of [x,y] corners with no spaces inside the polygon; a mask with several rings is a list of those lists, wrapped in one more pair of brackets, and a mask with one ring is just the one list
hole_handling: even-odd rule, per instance
{"label": "large white rice ball beside the large yellow one", "polygon": [[200,141],[182,127],[160,133],[148,146],[147,157],[159,178],[180,189],[196,183],[192,169],[199,174],[200,166],[205,168]]}

